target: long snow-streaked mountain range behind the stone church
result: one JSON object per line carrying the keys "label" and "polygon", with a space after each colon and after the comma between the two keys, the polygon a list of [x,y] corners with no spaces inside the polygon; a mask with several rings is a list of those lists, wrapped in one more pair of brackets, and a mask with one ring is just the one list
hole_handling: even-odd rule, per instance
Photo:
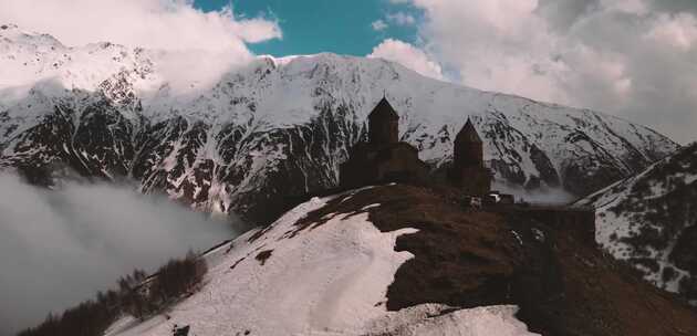
{"label": "long snow-streaked mountain range behind the stone church", "polygon": [[434,168],[450,159],[452,136],[471,117],[507,189],[582,196],[678,147],[602,113],[438,82],[383,60],[260,56],[219,71],[211,64],[220,60],[69,48],[0,25],[0,167],[38,183],[64,166],[127,177],[144,192],[268,222],[284,196],[336,186],[339,164],[366,136],[383,94],[400,114],[402,138]]}

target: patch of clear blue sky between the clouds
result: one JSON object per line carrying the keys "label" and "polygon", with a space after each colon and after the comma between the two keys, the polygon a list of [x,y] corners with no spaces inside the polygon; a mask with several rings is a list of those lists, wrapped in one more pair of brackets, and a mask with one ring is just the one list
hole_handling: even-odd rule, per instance
{"label": "patch of clear blue sky between the clouds", "polygon": [[[204,11],[216,11],[229,4],[228,0],[197,0]],[[418,18],[419,11],[406,4],[387,0],[237,0],[232,1],[236,15],[275,18],[283,32],[281,40],[273,39],[249,44],[256,54],[274,56],[334,52],[366,55],[387,38],[405,42],[416,40],[416,24],[388,24],[376,31],[373,22],[398,12]]]}

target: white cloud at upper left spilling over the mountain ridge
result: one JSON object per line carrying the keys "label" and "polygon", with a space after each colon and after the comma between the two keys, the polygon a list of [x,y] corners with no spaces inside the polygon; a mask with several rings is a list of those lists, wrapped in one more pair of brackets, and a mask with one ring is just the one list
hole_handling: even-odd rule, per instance
{"label": "white cloud at upper left spilling over the mountain ridge", "polygon": [[[138,90],[147,97],[149,92],[160,94],[159,88],[167,87],[167,94],[183,99],[197,96],[231,69],[250,62],[253,54],[248,43],[282,38],[274,18],[237,17],[231,6],[202,12],[189,0],[2,0],[0,24],[8,23],[21,31],[48,33],[67,46],[111,42],[131,51],[144,48],[155,60],[156,75]],[[25,50],[30,54],[22,56],[33,57]],[[93,91],[124,65],[114,64],[113,56],[105,53],[84,57],[79,51],[74,51],[77,55],[71,52],[70,60],[97,71],[90,76],[65,76],[70,71],[63,67],[17,66],[22,56],[14,64],[14,59],[6,59],[11,70],[0,86],[30,87],[58,76],[66,78],[66,87]],[[111,71],[98,71],[110,66]]]}

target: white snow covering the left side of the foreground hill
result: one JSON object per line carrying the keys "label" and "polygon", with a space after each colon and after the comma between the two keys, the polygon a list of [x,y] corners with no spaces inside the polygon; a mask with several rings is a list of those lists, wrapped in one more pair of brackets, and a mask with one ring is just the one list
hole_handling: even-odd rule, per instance
{"label": "white snow covering the left side of the foreground hill", "polygon": [[367,212],[295,225],[327,200],[314,198],[262,232],[210,252],[206,284],[168,311],[169,318],[158,315],[141,323],[126,316],[105,335],[168,336],[175,325],[188,325],[189,335],[197,336],[537,335],[513,317],[516,306],[423,304],[388,312],[387,286],[414,256],[395,252],[395,240],[416,230],[383,233]]}

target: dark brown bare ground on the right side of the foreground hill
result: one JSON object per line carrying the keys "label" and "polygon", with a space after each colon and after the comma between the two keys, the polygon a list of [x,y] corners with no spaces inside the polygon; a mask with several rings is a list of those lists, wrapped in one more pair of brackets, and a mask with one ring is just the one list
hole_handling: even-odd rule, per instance
{"label": "dark brown bare ground on the right side of the foreground hill", "polygon": [[395,250],[415,258],[388,288],[391,311],[516,304],[518,317],[543,335],[697,335],[695,311],[572,231],[524,214],[465,211],[450,189],[396,185],[345,193],[297,228],[360,212],[381,231],[419,230],[397,240]]}

